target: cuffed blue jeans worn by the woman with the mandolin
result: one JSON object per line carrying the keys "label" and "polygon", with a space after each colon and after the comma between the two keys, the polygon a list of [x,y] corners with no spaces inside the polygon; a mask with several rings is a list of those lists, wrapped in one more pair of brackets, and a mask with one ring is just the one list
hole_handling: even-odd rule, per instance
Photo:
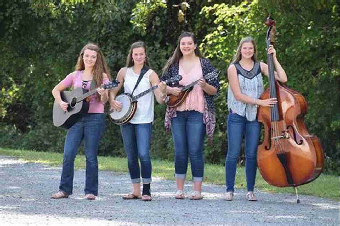
{"label": "cuffed blue jeans worn by the woman with the mandolin", "polygon": [[204,174],[203,144],[205,125],[198,111],[177,111],[171,119],[172,139],[175,146],[175,177],[185,179],[190,157],[194,182],[201,182]]}

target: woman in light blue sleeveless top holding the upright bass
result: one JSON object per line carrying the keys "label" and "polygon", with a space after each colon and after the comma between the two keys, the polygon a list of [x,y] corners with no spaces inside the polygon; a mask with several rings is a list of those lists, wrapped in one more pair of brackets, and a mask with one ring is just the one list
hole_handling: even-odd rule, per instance
{"label": "woman in light blue sleeveless top holding the upright bass", "polygon": [[[268,76],[268,65],[257,61],[256,44],[253,38],[240,41],[231,65],[228,67],[228,109],[227,138],[228,152],[225,160],[226,194],[224,200],[234,199],[234,184],[237,159],[240,155],[242,139],[245,139],[245,174],[247,179],[246,198],[256,201],[254,185],[256,176],[256,153],[260,138],[260,123],[256,120],[257,106],[272,107],[276,98],[259,99],[263,93],[262,74]],[[286,72],[276,59],[276,51],[271,45],[268,54],[273,54],[276,68],[275,78],[286,82]]]}

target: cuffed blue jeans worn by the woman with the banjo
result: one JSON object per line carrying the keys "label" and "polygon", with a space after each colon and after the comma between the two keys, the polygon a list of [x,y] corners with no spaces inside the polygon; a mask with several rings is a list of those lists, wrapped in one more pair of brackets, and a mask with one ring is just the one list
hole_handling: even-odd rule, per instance
{"label": "cuffed blue jeans worn by the woman with the banjo", "polygon": [[[151,182],[151,160],[149,148],[151,142],[152,123],[125,124],[120,126],[124,148],[128,158],[128,167],[131,182],[140,183],[140,174],[143,183]],[[138,157],[141,170],[139,169]]]}

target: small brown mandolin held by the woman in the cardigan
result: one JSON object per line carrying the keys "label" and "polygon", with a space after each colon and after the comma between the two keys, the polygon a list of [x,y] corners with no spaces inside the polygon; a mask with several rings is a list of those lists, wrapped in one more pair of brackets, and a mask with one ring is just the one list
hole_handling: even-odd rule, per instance
{"label": "small brown mandolin held by the woman in the cardigan", "polygon": [[[221,73],[221,71],[219,70],[213,70],[211,72],[209,72],[208,74],[206,74],[204,76],[204,79],[205,80],[209,80],[209,79],[215,79],[218,77],[218,75]],[[187,98],[189,92],[193,89],[193,86],[196,85],[198,83],[200,79],[186,85],[186,86],[177,86],[177,87],[183,87],[182,88],[182,92],[178,95],[178,96],[175,96],[175,95],[172,95],[172,94],[169,94],[168,97],[169,97],[169,101],[167,102],[167,105],[171,108],[176,108],[178,106],[180,106],[184,100]]]}

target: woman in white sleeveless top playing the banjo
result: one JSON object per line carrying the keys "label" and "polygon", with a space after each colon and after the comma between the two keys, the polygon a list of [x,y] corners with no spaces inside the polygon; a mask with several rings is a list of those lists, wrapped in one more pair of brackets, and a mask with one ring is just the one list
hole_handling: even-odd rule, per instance
{"label": "woman in white sleeveless top playing the banjo", "polygon": [[[116,100],[116,95],[123,85],[125,93],[129,94],[139,94],[154,85],[158,85],[159,88],[154,90],[154,94],[158,103],[164,103],[164,99],[166,97],[166,84],[159,82],[158,75],[152,69],[149,69],[144,75],[142,75],[136,86],[141,72],[145,71],[145,69],[143,69],[145,68],[145,65],[149,66],[147,47],[145,43],[133,43],[128,57],[126,58],[126,67],[121,68],[117,75],[117,80],[120,83],[118,87],[110,91],[110,104],[114,111],[121,111],[123,107],[122,102]],[[137,111],[130,122],[120,125],[124,148],[128,158],[131,182],[133,185],[133,192],[124,196],[124,199],[142,198],[143,201],[151,200],[151,160],[149,155],[149,146],[153,117],[154,97],[150,92],[138,99]],[[139,169],[138,157],[140,159],[141,169]],[[140,189],[140,174],[142,176],[143,183],[142,194]]]}

